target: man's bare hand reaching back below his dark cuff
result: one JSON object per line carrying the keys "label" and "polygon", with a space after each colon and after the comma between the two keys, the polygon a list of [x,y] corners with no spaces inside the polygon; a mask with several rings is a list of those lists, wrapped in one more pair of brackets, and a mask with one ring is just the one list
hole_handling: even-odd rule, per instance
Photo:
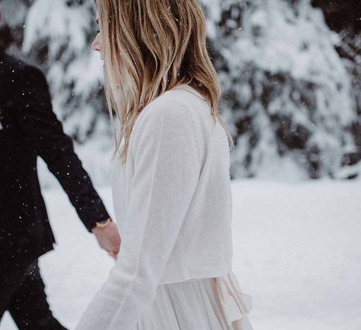
{"label": "man's bare hand reaching back below his dark cuff", "polygon": [[97,237],[99,245],[116,259],[121,242],[116,224],[111,221],[106,227],[94,227],[91,232]]}

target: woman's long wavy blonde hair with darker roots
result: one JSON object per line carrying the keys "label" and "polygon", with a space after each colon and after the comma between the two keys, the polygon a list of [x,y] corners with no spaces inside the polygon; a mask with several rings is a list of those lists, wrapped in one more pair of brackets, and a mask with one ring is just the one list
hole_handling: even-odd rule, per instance
{"label": "woman's long wavy blonde hair with darker roots", "polygon": [[[221,85],[206,50],[206,20],[198,0],[95,0],[103,39],[105,94],[123,163],[133,125],[155,97],[180,84],[210,102],[214,124]],[[145,80],[147,89],[143,91]],[[126,86],[125,88],[123,86]],[[141,103],[143,96],[143,103]],[[116,134],[113,112],[120,121]]]}

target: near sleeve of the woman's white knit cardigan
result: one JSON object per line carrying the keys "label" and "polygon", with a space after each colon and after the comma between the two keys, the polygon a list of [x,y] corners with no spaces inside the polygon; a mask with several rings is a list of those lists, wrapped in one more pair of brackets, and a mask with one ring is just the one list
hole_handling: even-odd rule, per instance
{"label": "near sleeve of the woman's white knit cardigan", "polygon": [[125,221],[120,252],[78,330],[136,326],[155,298],[196,189],[201,160],[190,110],[175,100],[159,103],[144,109],[147,113],[134,126],[134,141],[128,150],[134,160],[134,177],[126,219],[117,219]]}

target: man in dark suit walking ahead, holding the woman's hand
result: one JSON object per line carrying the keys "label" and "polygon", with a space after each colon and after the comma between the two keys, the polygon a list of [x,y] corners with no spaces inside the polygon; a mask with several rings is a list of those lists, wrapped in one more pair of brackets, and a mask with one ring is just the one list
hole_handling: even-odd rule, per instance
{"label": "man in dark suit walking ahead, holding the woman's hand", "polygon": [[86,228],[116,257],[117,227],[52,112],[44,75],[0,50],[0,319],[9,310],[19,329],[65,329],[52,316],[38,268],[54,243],[38,155]]}

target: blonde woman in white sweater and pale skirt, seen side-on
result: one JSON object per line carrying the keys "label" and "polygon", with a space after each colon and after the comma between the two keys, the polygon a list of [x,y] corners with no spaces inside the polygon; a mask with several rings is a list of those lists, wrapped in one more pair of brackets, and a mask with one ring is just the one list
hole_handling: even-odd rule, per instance
{"label": "blonde woman in white sweater and pale skirt, seen side-on", "polygon": [[[232,273],[232,139],[197,0],[96,0],[120,252],[78,330],[252,329]],[[112,119],[113,128],[114,121]],[[228,139],[227,139],[228,137]]]}

